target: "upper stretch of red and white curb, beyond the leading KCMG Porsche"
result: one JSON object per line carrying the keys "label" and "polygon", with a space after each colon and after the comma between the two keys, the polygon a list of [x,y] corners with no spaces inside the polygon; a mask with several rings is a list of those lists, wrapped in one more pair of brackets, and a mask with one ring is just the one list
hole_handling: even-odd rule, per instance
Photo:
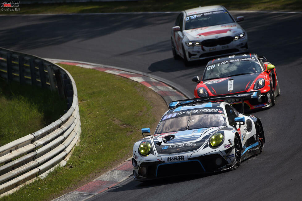
{"label": "upper stretch of red and white curb, beyond the leading KCMG Porsche", "polygon": [[83,68],[95,69],[106,73],[127,77],[155,91],[162,98],[164,98],[167,104],[175,100],[187,99],[187,97],[184,94],[178,92],[171,86],[168,86],[166,83],[160,82],[152,77],[148,77],[148,75],[144,75],[143,73],[141,74],[132,73],[129,71],[125,71],[127,69],[121,70],[121,68],[117,69],[118,67],[114,67],[114,66],[106,66],[106,65],[94,64],[94,63],[88,63],[82,61],[70,61],[70,60],[61,60],[61,59],[46,59],[46,60],[52,63],[75,65]]}

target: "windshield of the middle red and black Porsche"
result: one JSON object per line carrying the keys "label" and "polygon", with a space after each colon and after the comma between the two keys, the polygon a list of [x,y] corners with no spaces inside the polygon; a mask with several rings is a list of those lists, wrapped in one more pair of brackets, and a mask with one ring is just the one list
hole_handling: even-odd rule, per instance
{"label": "windshield of the middle red and black Porsche", "polygon": [[261,66],[255,58],[246,59],[250,61],[234,59],[211,64],[206,67],[203,80],[262,72]]}

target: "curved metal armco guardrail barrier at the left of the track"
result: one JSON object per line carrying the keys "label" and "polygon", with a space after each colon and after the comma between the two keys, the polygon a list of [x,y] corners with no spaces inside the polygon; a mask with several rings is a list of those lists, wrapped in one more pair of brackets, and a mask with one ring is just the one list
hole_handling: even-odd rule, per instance
{"label": "curved metal armco guardrail barrier at the left of the track", "polygon": [[79,140],[78,93],[68,71],[42,58],[0,48],[0,77],[58,91],[68,110],[57,121],[0,147],[0,197],[66,165]]}

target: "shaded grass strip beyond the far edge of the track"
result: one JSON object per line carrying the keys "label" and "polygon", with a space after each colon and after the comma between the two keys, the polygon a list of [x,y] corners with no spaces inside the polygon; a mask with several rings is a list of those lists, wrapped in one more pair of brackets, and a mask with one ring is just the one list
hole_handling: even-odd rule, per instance
{"label": "shaded grass strip beyond the far edge of the track", "polygon": [[198,6],[210,5],[223,5],[228,10],[302,10],[301,0],[149,0],[53,4],[22,4],[21,1],[19,11],[0,10],[0,14],[181,11]]}

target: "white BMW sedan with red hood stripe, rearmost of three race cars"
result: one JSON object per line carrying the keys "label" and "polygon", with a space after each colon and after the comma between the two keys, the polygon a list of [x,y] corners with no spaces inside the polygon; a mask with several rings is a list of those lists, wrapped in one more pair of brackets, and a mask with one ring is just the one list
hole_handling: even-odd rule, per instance
{"label": "white BMW sedan with red hood stripe, rearmost of three race cars", "polygon": [[249,52],[247,34],[223,6],[183,10],[171,31],[175,59],[188,61]]}

